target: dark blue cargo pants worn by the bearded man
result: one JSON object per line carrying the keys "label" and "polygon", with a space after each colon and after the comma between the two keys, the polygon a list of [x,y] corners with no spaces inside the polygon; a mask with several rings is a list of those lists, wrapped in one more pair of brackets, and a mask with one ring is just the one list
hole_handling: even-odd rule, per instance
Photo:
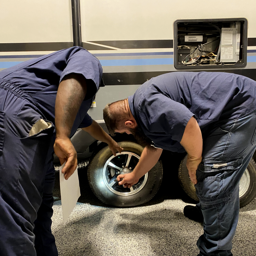
{"label": "dark blue cargo pants worn by the bearded man", "polygon": [[228,122],[203,141],[196,194],[204,216],[201,256],[231,256],[239,215],[239,180],[256,149],[256,112]]}

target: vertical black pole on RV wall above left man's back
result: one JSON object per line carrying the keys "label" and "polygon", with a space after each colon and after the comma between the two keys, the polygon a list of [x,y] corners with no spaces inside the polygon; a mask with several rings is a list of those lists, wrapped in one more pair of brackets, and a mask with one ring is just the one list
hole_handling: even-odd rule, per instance
{"label": "vertical black pole on RV wall above left man's back", "polygon": [[80,0],[71,0],[74,46],[82,46]]}

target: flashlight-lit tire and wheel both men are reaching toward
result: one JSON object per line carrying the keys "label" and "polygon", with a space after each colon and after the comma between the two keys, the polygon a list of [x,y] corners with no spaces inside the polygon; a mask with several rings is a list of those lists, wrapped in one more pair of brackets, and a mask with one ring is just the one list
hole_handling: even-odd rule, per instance
{"label": "flashlight-lit tire and wheel both men are reaching toward", "polygon": [[121,154],[117,153],[116,157],[113,156],[108,146],[92,156],[87,172],[89,185],[93,193],[105,204],[117,207],[145,204],[156,195],[160,188],[163,178],[162,162],[158,161],[137,184],[132,186],[132,189],[123,188],[115,182],[119,175],[118,172],[124,171],[125,168],[122,166],[127,165],[129,157],[127,168],[133,170],[139,161],[143,147],[131,141],[121,141],[118,144],[124,149]]}

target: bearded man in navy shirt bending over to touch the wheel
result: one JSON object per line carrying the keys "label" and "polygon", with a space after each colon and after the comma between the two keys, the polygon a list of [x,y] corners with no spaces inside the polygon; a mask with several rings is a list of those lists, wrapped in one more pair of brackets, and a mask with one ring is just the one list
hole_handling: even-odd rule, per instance
{"label": "bearded man in navy shirt bending over to touch the wheel", "polygon": [[117,177],[119,185],[136,184],[163,149],[188,153],[200,203],[185,206],[184,214],[204,220],[200,256],[233,255],[239,180],[256,148],[255,98],[256,82],[244,76],[174,72],[150,79],[103,110],[110,134],[132,133],[145,146],[133,172]]}

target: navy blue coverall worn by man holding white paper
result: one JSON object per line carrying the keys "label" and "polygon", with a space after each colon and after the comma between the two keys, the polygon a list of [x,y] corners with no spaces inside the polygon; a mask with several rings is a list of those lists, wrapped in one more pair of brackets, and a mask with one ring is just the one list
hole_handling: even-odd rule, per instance
{"label": "navy blue coverall worn by man holding white paper", "polygon": [[[97,58],[71,47],[0,72],[0,255],[58,255],[51,232],[54,108],[59,83],[70,73],[87,82],[72,136],[92,124],[87,111],[102,79]],[[31,133],[42,119],[46,126]]]}

